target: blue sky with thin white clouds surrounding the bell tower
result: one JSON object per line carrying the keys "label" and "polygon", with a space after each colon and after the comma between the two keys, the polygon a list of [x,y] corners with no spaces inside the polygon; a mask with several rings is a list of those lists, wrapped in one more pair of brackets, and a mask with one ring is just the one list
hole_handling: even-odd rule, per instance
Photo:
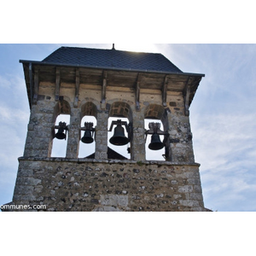
{"label": "blue sky with thin white clouds surrounding the bell tower", "polygon": [[[61,46],[111,49],[112,44],[0,44],[0,205],[12,200],[29,107],[19,60],[42,61]],[[206,77],[190,107],[195,161],[205,207],[256,211],[256,44],[115,44],[158,52],[183,72]]]}

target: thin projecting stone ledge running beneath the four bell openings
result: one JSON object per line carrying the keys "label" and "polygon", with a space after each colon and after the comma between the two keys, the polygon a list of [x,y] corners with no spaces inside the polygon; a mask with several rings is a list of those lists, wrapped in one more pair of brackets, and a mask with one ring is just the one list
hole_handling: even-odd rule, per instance
{"label": "thin projecting stone ledge running beneath the four bell openings", "polygon": [[19,162],[22,160],[31,161],[52,161],[52,162],[74,162],[82,163],[104,163],[104,164],[137,164],[137,165],[158,165],[158,166],[201,166],[195,162],[172,162],[172,161],[158,161],[158,160],[96,160],[84,158],[66,158],[66,157],[19,157]]}

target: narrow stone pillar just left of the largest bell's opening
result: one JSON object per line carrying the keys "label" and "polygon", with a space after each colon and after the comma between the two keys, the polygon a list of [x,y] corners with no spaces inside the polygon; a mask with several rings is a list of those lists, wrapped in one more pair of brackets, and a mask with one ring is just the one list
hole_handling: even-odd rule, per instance
{"label": "narrow stone pillar just left of the largest bell's opening", "polygon": [[108,111],[99,111],[97,113],[96,125],[96,152],[97,160],[108,159]]}

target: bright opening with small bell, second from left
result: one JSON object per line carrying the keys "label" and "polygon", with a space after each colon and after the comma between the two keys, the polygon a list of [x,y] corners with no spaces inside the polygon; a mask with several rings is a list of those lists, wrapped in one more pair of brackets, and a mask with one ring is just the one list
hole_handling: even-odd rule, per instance
{"label": "bright opening with small bell, second from left", "polygon": [[[85,124],[84,124],[85,123]],[[89,125],[88,125],[89,123]],[[90,125],[92,123],[92,125]],[[79,158],[95,158],[95,131],[89,131],[90,127],[95,129],[97,120],[94,116],[85,115],[81,120],[81,127],[89,128],[80,131]]]}

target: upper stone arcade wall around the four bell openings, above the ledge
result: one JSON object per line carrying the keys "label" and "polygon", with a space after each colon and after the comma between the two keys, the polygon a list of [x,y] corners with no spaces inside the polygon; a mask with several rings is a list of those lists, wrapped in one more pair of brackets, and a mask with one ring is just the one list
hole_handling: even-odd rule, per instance
{"label": "upper stone arcade wall around the four bell openings, above the ledge", "polygon": [[[68,105],[66,113],[71,117],[67,139],[67,158],[78,157],[80,121],[84,114],[91,114],[97,119],[96,159],[108,159],[108,117],[119,114],[126,116],[132,123],[131,160],[145,160],[144,119],[153,117],[161,119],[165,131],[170,134],[169,153],[166,155],[166,160],[195,162],[189,117],[184,115],[181,93],[168,92],[167,106],[164,108],[161,106],[159,90],[141,90],[140,110],[137,111],[134,91],[125,88],[108,89],[106,104],[102,104],[101,88],[96,87],[92,90],[88,86],[81,84],[79,107],[74,108],[74,84],[61,84],[60,95]],[[55,108],[60,104],[60,102],[55,102],[54,88],[55,84],[40,83],[38,102],[37,105],[32,105],[28,125],[24,152],[26,157],[50,157],[51,155],[53,143],[51,133],[58,115]],[[91,113],[87,108],[92,109]],[[61,110],[59,113],[62,113]]]}

